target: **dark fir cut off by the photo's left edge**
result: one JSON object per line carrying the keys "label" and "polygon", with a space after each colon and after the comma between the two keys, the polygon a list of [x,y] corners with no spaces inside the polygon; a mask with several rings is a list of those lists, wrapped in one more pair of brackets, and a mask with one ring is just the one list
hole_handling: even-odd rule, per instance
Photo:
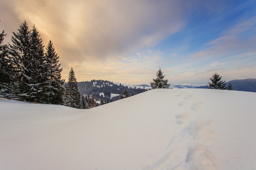
{"label": "dark fir cut off by the photo's left edge", "polygon": [[8,58],[9,48],[7,44],[3,44],[4,31],[0,33],[0,92],[10,93],[9,83],[11,82],[11,64]]}

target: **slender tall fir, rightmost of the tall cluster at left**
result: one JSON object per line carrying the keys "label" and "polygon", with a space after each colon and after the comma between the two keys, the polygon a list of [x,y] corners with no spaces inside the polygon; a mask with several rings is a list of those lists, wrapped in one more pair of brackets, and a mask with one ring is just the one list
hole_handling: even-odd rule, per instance
{"label": "slender tall fir, rightmost of the tall cluster at left", "polygon": [[62,68],[61,64],[59,64],[58,60],[59,56],[55,52],[52,41],[50,40],[45,52],[45,60],[47,63],[47,73],[49,80],[49,88],[48,88],[48,100],[47,103],[60,105],[63,103],[63,84],[64,81],[61,79]]}

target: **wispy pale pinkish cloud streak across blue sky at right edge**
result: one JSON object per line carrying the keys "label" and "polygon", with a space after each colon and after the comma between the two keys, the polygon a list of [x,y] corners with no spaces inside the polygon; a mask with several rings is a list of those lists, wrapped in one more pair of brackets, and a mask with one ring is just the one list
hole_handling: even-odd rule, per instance
{"label": "wispy pale pinkish cloud streak across blue sky at right edge", "polygon": [[204,49],[196,52],[192,58],[211,57],[212,59],[254,51],[256,40],[256,17],[242,18],[227,30],[222,31],[220,37],[207,42]]}

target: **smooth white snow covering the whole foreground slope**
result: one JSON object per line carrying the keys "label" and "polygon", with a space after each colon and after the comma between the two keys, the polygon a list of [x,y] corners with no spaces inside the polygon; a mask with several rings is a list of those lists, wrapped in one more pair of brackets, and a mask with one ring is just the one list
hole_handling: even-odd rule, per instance
{"label": "smooth white snow covering the whole foreground slope", "polygon": [[256,93],[154,89],[92,109],[0,100],[0,169],[255,170]]}

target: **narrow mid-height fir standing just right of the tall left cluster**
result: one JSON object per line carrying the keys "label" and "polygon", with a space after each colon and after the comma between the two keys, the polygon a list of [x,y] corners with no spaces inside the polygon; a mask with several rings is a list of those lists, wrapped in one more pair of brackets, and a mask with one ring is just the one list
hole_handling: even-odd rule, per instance
{"label": "narrow mid-height fir standing just right of the tall left cluster", "polygon": [[80,93],[76,82],[73,68],[71,68],[68,82],[65,85],[64,105],[68,107],[81,108]]}

